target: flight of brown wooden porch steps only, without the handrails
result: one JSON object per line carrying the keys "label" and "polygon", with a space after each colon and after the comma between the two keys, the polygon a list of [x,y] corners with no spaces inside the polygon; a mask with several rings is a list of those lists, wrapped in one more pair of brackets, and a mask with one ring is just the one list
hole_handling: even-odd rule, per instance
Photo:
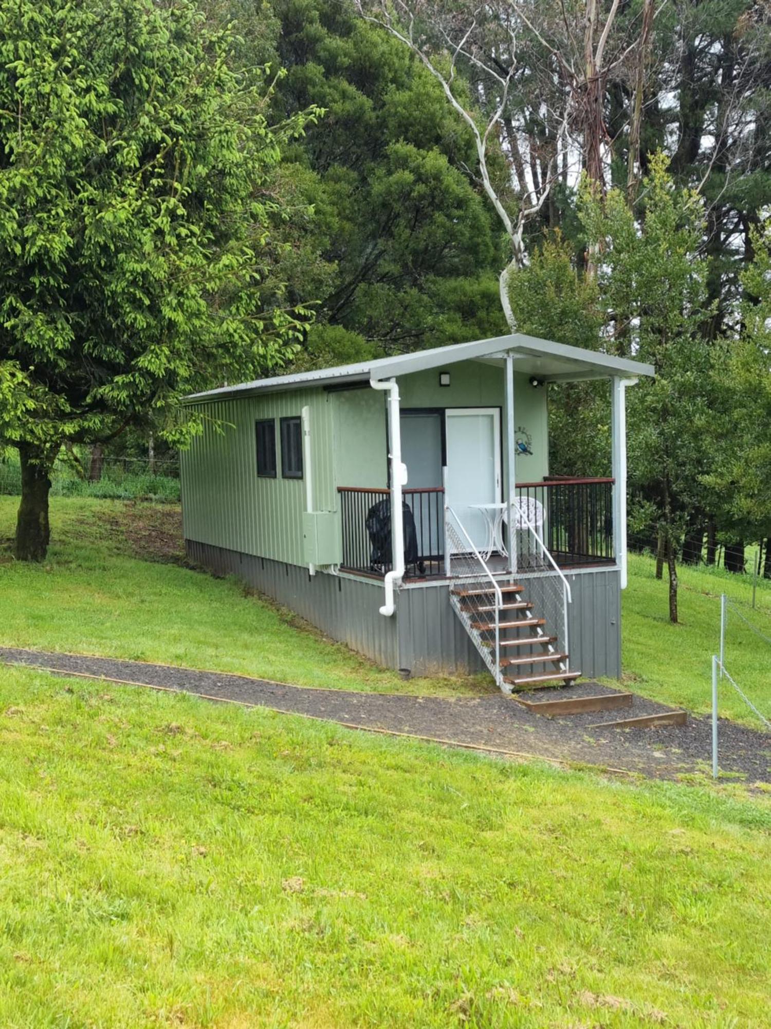
{"label": "flight of brown wooden porch steps only, without the handrails", "polygon": [[581,673],[571,671],[558,637],[524,599],[524,587],[497,586],[456,580],[450,603],[501,688],[512,693],[578,679]]}

